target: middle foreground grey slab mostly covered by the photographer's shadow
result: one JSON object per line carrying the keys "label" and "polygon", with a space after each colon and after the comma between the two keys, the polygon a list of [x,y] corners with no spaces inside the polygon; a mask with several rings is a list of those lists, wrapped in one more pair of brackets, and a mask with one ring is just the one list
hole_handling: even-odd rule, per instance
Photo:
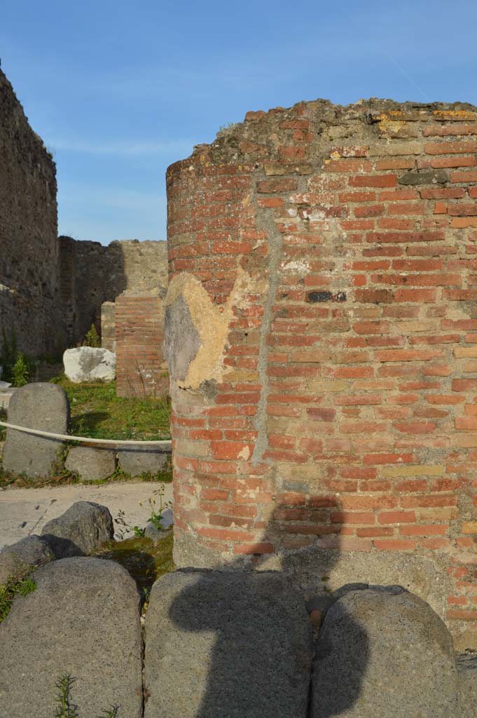
{"label": "middle foreground grey slab mostly covered by the photographer's shadow", "polygon": [[146,613],[144,718],[305,718],[303,600],[278,573],[176,572]]}

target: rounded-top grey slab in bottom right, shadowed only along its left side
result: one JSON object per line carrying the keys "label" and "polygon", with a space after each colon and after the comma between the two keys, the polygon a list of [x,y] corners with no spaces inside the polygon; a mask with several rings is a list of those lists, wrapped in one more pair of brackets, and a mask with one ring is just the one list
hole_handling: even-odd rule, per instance
{"label": "rounded-top grey slab in bottom right, shadowed only along its left side", "polygon": [[401,587],[351,591],[326,613],[313,667],[313,718],[451,718],[458,678],[448,629]]}

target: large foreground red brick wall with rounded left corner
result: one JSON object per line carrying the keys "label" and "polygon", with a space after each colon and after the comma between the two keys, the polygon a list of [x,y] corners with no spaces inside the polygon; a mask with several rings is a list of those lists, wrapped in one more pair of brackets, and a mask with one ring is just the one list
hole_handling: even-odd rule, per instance
{"label": "large foreground red brick wall with rounded left corner", "polygon": [[316,101],[169,168],[179,566],[402,584],[477,647],[476,136]]}

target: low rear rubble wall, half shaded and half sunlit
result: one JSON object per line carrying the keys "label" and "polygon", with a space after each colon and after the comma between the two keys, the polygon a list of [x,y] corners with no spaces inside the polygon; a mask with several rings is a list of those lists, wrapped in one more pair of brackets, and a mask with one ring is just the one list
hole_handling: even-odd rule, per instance
{"label": "low rear rubble wall, half shaded and half sunlit", "polygon": [[93,322],[100,332],[101,304],[122,292],[167,286],[166,242],[125,240],[108,246],[60,237],[62,302],[68,342],[82,342]]}

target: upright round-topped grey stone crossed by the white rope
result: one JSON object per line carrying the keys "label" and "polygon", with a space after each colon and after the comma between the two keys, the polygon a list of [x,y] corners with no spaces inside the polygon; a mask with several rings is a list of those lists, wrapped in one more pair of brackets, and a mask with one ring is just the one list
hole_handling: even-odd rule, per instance
{"label": "upright round-topped grey stone crossed by the white rope", "polygon": [[[41,381],[17,388],[9,402],[8,421],[29,429],[66,434],[70,421],[67,394],[61,386]],[[47,476],[61,447],[60,439],[7,429],[4,470],[15,474],[24,472],[31,478]]]}

